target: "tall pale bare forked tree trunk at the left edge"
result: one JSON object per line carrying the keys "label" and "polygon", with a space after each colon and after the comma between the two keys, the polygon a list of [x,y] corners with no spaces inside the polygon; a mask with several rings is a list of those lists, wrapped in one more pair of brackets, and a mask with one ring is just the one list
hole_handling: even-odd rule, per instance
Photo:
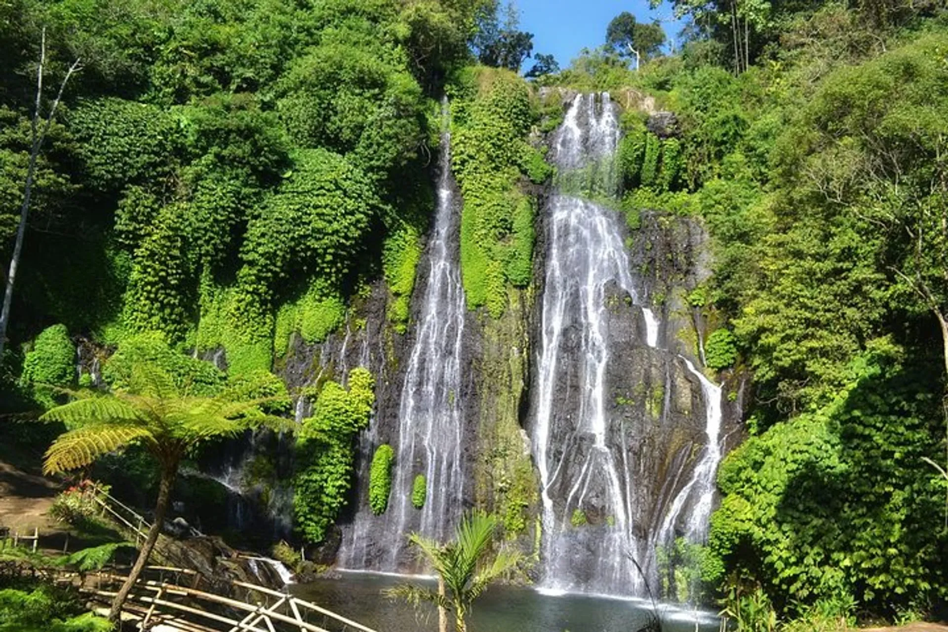
{"label": "tall pale bare forked tree trunk at the left edge", "polygon": [[7,271],[7,288],[3,295],[3,309],[0,310],[0,362],[3,361],[4,348],[7,346],[7,326],[9,325],[9,310],[13,303],[13,285],[16,283],[16,269],[20,265],[20,255],[23,253],[23,238],[27,233],[27,217],[29,215],[29,198],[33,193],[33,180],[36,177],[36,161],[40,156],[40,149],[43,149],[43,142],[46,140],[46,132],[49,132],[49,126],[53,122],[53,116],[56,115],[56,108],[63,98],[65,84],[72,77],[72,74],[79,69],[79,60],[73,62],[66,72],[63,83],[60,84],[59,93],[56,100],[53,101],[46,116],[46,122],[43,129],[40,130],[40,106],[43,101],[43,75],[46,71],[46,28],[43,29],[43,38],[40,43],[40,65],[36,71],[36,106],[33,109],[33,118],[30,121],[30,143],[29,143],[29,163],[27,165],[27,184],[24,187],[23,203],[20,205],[20,224],[16,229],[16,243],[13,245],[13,255],[10,257],[9,269]]}

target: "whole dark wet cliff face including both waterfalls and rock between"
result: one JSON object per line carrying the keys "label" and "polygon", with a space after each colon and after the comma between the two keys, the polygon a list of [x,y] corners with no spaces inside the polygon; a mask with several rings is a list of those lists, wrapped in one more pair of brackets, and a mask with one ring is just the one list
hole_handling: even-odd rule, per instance
{"label": "whole dark wet cliff face including both waterfalls and rock between", "polygon": [[[637,93],[620,97],[653,108]],[[291,392],[344,381],[356,366],[376,378],[350,508],[308,557],[335,557],[347,569],[424,571],[407,536],[447,538],[478,507],[497,513],[525,551],[539,543],[541,586],[641,594],[632,558],[654,580],[658,548],[704,536],[741,404],[739,384],[720,386],[700,368],[706,324],[687,296],[710,273],[707,236],[700,222],[657,211],[643,212],[630,230],[601,203],[603,191],[617,188],[618,105],[608,95],[544,98],[567,110],[549,139],[563,186],[538,196],[533,286],[508,290],[500,318],[466,310],[461,200],[445,146],[407,331],[389,324],[390,295],[379,282],[344,330],[320,344],[294,342],[283,360]],[[676,125],[670,113],[649,119],[663,137]],[[599,202],[584,199],[577,183],[591,185]],[[298,419],[310,407],[301,397]],[[388,510],[374,516],[369,469],[382,444],[396,458]],[[421,510],[410,504],[419,473],[428,484]]]}

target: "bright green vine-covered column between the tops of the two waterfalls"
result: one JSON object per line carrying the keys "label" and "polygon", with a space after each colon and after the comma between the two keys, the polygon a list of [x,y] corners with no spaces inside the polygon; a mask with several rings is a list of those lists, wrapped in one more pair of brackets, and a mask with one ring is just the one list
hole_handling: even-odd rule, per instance
{"label": "bright green vine-covered column between the tops of the two waterfalls", "polygon": [[506,287],[525,287],[533,267],[534,202],[520,191],[521,173],[549,177],[524,140],[534,121],[527,84],[516,75],[479,68],[461,79],[452,101],[452,167],[465,201],[461,272],[468,307],[506,308]]}

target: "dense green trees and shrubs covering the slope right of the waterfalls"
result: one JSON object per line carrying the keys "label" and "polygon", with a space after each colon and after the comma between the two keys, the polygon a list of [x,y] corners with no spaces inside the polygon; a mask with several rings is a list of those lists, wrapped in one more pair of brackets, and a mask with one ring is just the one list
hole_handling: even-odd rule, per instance
{"label": "dense green trees and shrubs covering the slope right of the waterfalls", "polygon": [[[708,547],[668,564],[700,567],[746,629],[936,612],[944,17],[895,3],[676,7],[694,19],[680,54],[632,72],[611,46],[628,47],[634,25],[614,24],[610,45],[538,79],[640,90],[676,114],[665,137],[624,114],[623,208],[632,229],[648,209],[702,219],[714,274],[688,301],[710,325],[705,364],[754,380],[751,437],[720,469]],[[668,571],[665,588],[681,594],[688,572],[676,588]]]}

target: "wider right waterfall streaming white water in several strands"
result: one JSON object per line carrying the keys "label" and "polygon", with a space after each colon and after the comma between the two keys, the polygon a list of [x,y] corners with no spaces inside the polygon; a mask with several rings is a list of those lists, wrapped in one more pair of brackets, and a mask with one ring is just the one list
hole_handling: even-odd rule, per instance
{"label": "wider right waterfall streaming white water in several strands", "polygon": [[[662,348],[660,323],[639,300],[641,284],[632,275],[619,218],[583,199],[617,192],[613,158],[619,138],[609,96],[580,95],[554,145],[558,190],[546,219],[531,418],[543,505],[540,585],[554,590],[641,594],[644,578],[632,558],[654,577],[655,547],[682,534],[683,521],[684,535],[702,537],[720,461],[720,387]],[[626,399],[617,396],[616,384],[631,378],[617,377],[611,367],[611,351],[623,335],[634,339],[631,348],[647,365],[643,372],[661,376],[654,392],[662,398],[652,408],[663,413],[655,420],[635,421],[616,411],[616,400]],[[665,471],[662,480],[648,471],[643,447],[656,442],[655,422],[666,423],[673,388],[691,389],[687,379],[674,378],[683,364],[701,384],[707,445],[697,465],[687,458],[690,449],[677,448],[684,456],[670,459],[677,469]],[[634,384],[629,387],[635,391]],[[683,468],[691,466],[683,486]]]}

